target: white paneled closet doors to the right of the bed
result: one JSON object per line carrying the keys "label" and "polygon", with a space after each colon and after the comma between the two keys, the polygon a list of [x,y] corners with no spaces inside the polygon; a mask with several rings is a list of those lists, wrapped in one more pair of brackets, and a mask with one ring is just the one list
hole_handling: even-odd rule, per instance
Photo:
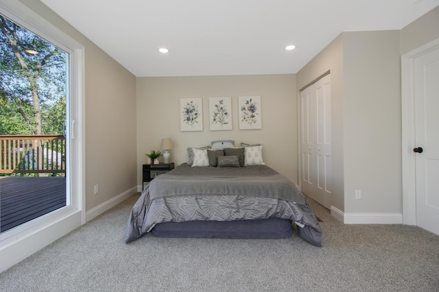
{"label": "white paneled closet doors to the right of the bed", "polygon": [[331,208],[331,82],[326,75],[300,93],[302,192]]}

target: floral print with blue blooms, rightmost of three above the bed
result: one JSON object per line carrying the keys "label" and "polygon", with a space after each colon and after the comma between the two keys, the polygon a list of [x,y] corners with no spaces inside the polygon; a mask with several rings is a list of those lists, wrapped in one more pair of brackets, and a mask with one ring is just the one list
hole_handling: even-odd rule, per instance
{"label": "floral print with blue blooms, rightmost of three above the bed", "polygon": [[262,129],[261,97],[238,97],[239,130]]}

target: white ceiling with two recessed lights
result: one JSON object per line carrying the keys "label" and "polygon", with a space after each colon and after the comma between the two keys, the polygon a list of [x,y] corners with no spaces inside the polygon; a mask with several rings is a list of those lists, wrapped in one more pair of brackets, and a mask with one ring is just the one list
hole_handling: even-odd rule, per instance
{"label": "white ceiling with two recessed lights", "polygon": [[[41,0],[138,77],[297,73],[341,32],[401,29],[439,0]],[[296,45],[286,51],[286,45]],[[158,52],[167,47],[169,53]]]}

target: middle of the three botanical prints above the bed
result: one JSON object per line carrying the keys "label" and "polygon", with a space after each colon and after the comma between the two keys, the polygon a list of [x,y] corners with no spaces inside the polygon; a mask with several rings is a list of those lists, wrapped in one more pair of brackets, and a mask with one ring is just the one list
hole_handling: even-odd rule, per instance
{"label": "middle of the three botanical prints above the bed", "polygon": [[232,130],[232,97],[209,98],[211,131]]}

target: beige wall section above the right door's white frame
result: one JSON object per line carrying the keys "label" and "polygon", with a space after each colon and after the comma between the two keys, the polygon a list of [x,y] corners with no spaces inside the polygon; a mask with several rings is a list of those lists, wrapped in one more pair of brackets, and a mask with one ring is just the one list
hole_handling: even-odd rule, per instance
{"label": "beige wall section above the right door's white frame", "polygon": [[401,54],[439,38],[439,6],[401,29]]}

